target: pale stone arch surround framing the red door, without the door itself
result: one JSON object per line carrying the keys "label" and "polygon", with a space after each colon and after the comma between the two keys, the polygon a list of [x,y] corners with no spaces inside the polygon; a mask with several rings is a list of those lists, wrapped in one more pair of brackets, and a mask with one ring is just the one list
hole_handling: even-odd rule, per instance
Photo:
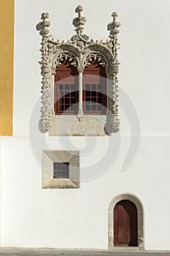
{"label": "pale stone arch surround framing the red door, without the door itself", "polygon": [[[144,208],[142,206],[141,200],[136,195],[125,193],[117,195],[109,203],[108,209],[108,247],[109,249],[122,249],[121,246],[114,246],[114,215],[113,210],[115,205],[121,200],[129,200],[137,208],[137,218],[138,218],[138,247],[136,249],[144,249]],[[125,249],[131,249],[131,247],[123,247]]]}

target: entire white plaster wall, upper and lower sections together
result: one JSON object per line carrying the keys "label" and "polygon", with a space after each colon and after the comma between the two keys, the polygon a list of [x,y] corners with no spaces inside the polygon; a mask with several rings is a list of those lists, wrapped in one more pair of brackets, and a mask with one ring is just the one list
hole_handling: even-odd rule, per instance
{"label": "entire white plaster wall, upper and lower sections together", "polygon": [[[50,138],[38,131],[41,37],[36,24],[42,12],[50,12],[53,37],[69,39],[78,4],[93,39],[107,38],[112,11],[120,15],[120,85],[142,128],[138,154],[125,171],[131,141],[127,109],[121,110],[120,148],[117,135]],[[107,248],[109,203],[131,192],[144,206],[145,249],[170,249],[169,7],[169,0],[15,0],[15,136],[1,139],[1,246]],[[122,108],[124,101],[120,98]],[[41,189],[41,154],[49,149],[80,150],[80,189]]]}

